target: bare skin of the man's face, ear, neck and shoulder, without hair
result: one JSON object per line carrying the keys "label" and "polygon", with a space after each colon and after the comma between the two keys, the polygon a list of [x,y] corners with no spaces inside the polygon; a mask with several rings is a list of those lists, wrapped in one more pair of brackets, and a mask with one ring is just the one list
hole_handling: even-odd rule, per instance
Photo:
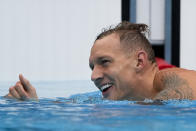
{"label": "bare skin of the man's face, ear, neck and shoulder, without hair", "polygon": [[90,54],[91,80],[111,100],[196,99],[196,72],[158,70],[142,51],[127,55],[117,34],[95,41]]}

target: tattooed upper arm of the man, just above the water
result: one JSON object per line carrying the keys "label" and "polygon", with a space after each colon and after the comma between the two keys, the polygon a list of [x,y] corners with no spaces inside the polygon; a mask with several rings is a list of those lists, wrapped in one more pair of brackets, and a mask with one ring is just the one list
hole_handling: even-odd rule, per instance
{"label": "tattooed upper arm of the man, just above the water", "polygon": [[154,100],[169,99],[193,99],[193,90],[189,83],[175,72],[163,72],[156,79],[161,91],[155,96]]}

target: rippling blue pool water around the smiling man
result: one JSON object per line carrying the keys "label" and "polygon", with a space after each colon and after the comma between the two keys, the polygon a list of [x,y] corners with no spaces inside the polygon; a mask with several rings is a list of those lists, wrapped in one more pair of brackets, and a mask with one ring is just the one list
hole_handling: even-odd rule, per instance
{"label": "rippling blue pool water around the smiling man", "polygon": [[[35,83],[60,86],[59,94],[66,89],[79,91],[87,82]],[[7,92],[7,84],[0,91]],[[65,88],[62,88],[65,85]],[[76,86],[77,85],[77,86]],[[80,86],[78,86],[80,85]],[[6,87],[7,86],[7,87]],[[40,87],[39,87],[40,88]],[[92,87],[94,88],[94,87]],[[49,92],[51,87],[38,89],[38,94]],[[58,91],[57,91],[58,92]],[[196,101],[165,101],[161,105],[137,104],[134,101],[103,100],[99,91],[71,94],[69,97],[41,95],[39,101],[17,101],[0,98],[0,130],[18,131],[193,131],[196,130]],[[44,96],[44,97],[43,97]]]}

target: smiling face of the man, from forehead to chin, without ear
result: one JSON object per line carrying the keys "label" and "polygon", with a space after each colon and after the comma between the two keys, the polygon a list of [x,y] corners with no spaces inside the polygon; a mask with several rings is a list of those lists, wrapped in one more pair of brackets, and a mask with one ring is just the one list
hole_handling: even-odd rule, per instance
{"label": "smiling face of the man, from forehead to chin, without ear", "polygon": [[120,46],[117,34],[97,40],[89,59],[92,69],[91,80],[101,90],[103,97],[123,100],[137,93],[136,61],[128,56]]}

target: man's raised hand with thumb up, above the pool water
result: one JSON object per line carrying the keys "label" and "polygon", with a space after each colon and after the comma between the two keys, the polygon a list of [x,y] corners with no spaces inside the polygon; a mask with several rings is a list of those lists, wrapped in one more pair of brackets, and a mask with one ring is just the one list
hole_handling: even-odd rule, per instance
{"label": "man's raised hand with thumb up, above the pool water", "polygon": [[19,75],[19,81],[9,88],[9,93],[5,97],[19,100],[38,100],[35,88],[22,74]]}

